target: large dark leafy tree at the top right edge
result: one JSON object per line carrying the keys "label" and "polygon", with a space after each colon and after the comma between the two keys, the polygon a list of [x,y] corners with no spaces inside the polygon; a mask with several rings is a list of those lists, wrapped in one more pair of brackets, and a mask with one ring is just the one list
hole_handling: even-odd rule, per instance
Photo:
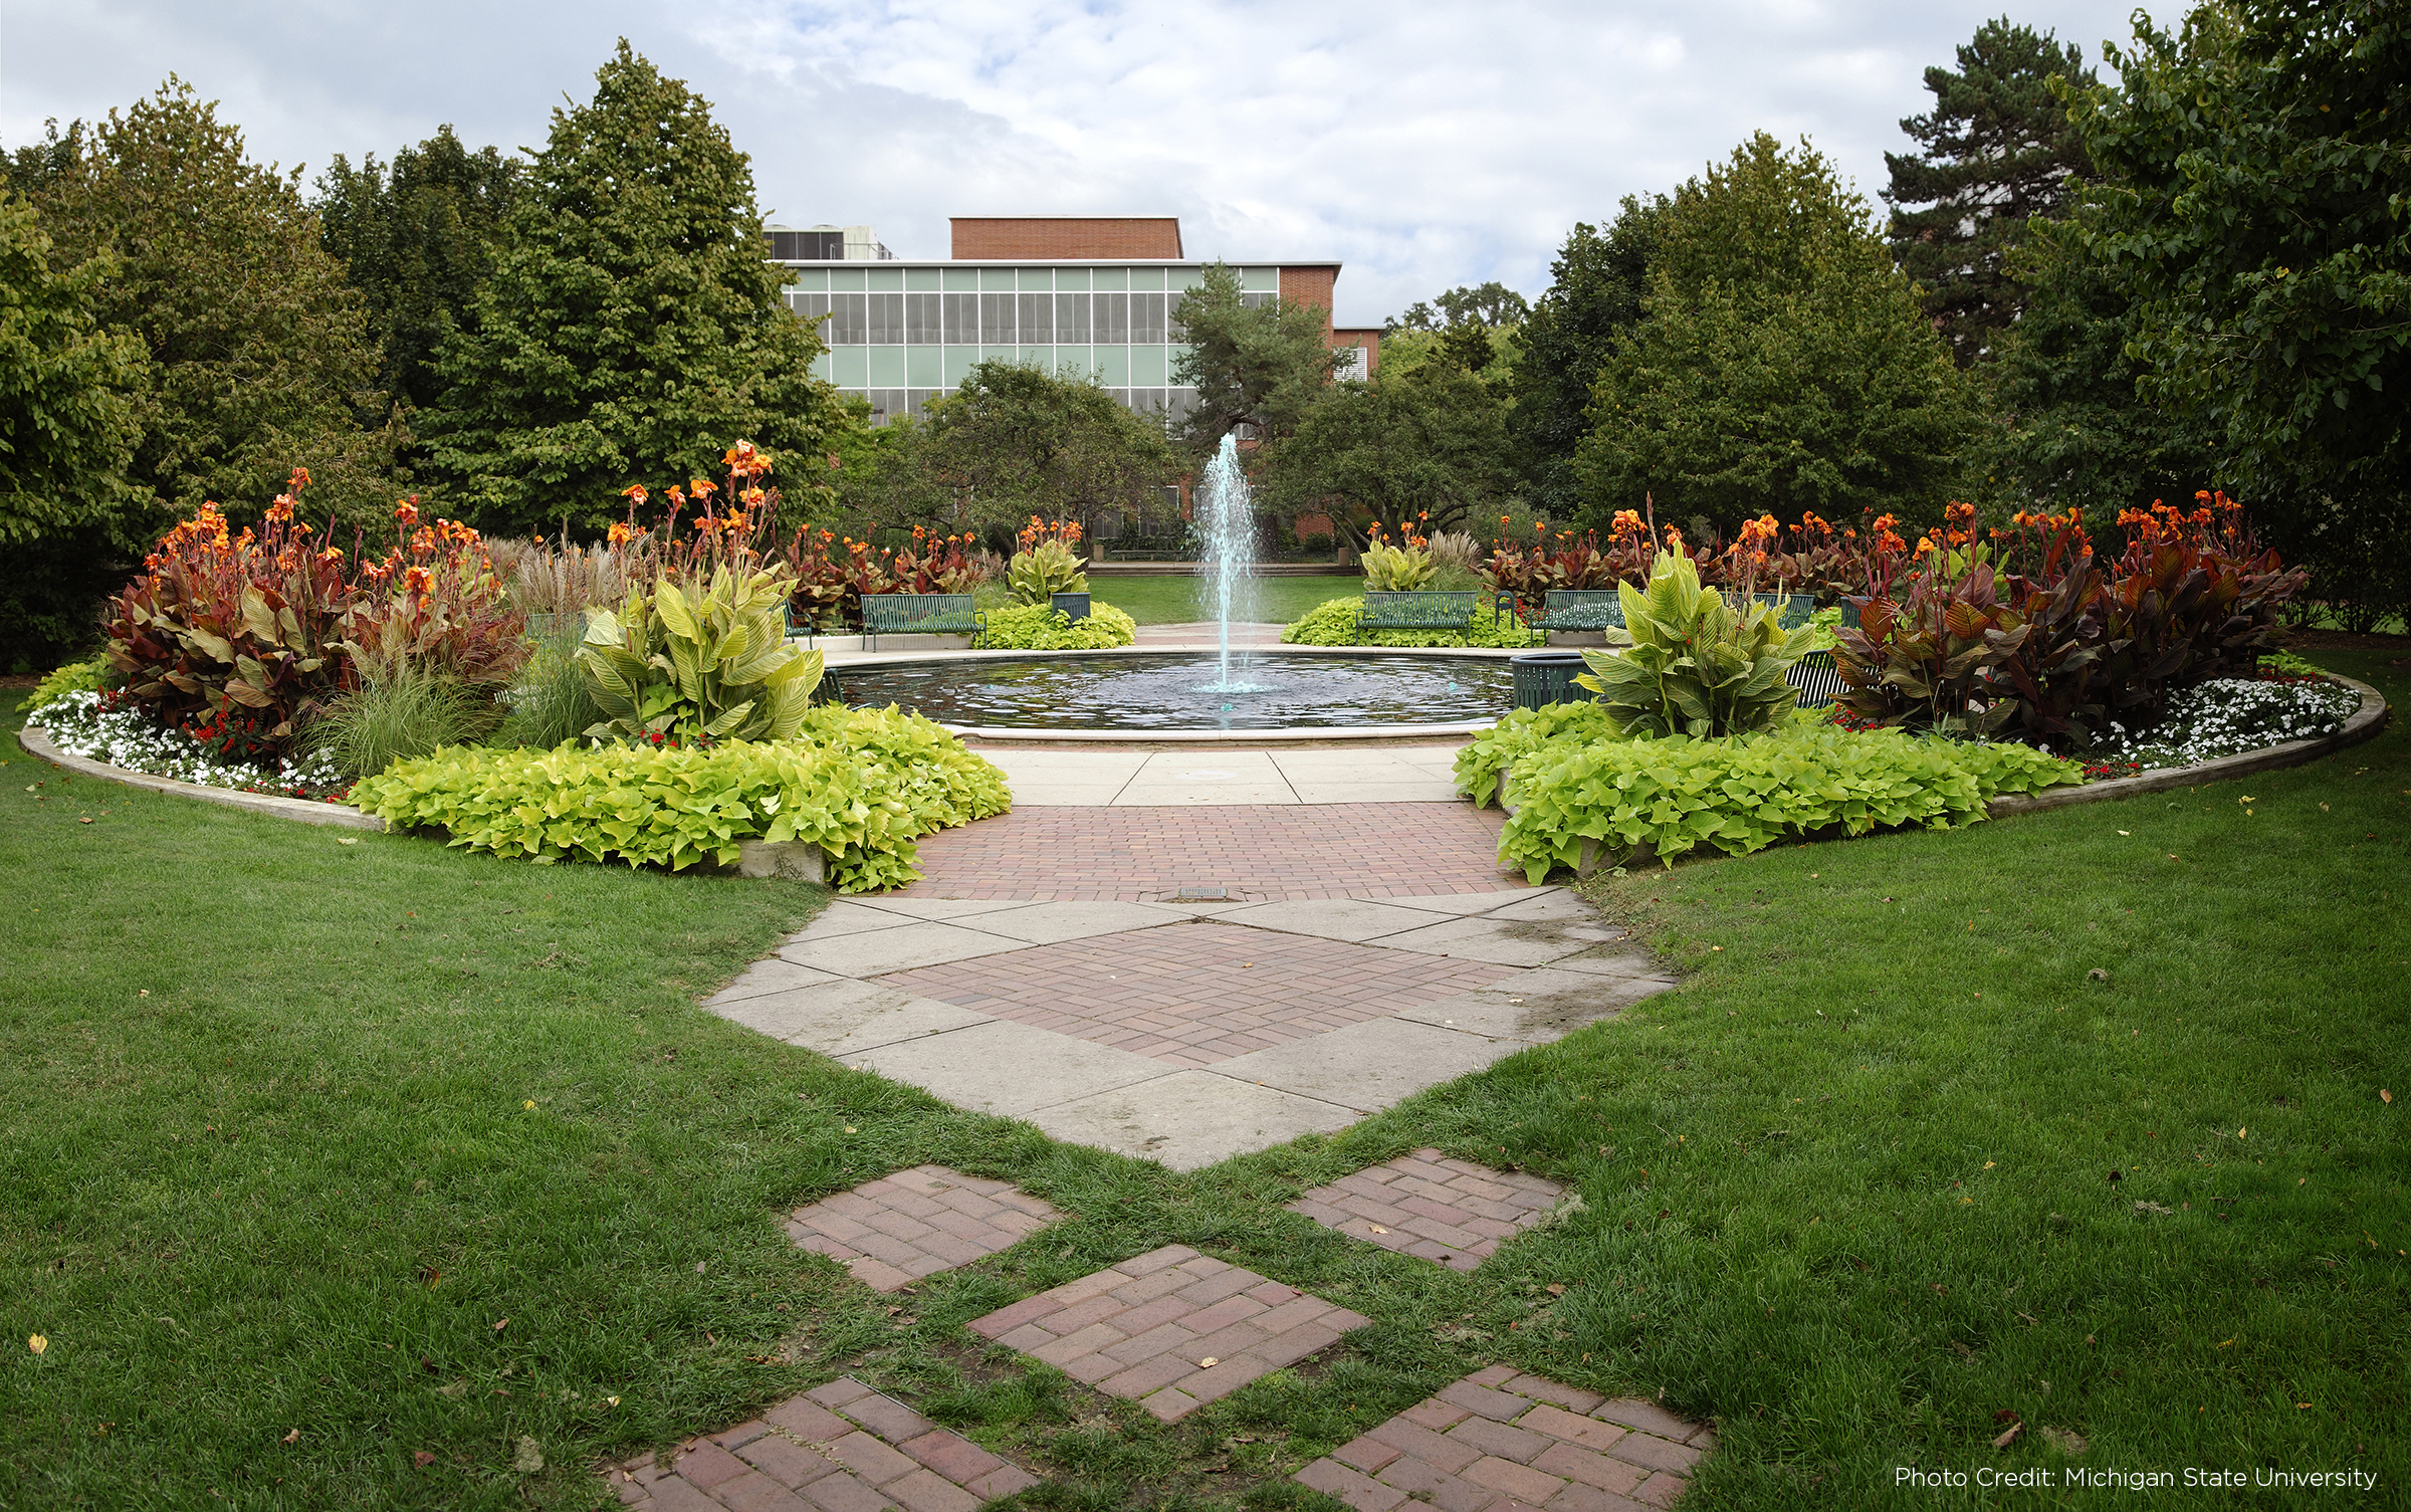
{"label": "large dark leafy tree at the top right edge", "polygon": [[2141,398],[2201,417],[2300,547],[2401,533],[2411,485],[2411,12],[2233,0],[2136,17],[2071,92],[2100,169],[2076,248],[2131,299]]}

